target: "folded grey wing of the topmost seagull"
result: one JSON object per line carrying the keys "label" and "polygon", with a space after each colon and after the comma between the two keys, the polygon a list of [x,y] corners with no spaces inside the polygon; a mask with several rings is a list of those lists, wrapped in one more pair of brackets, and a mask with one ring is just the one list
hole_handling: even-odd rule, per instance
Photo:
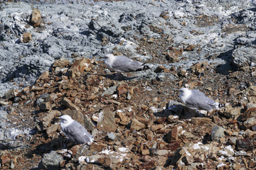
{"label": "folded grey wing of the topmost seagull", "polygon": [[135,72],[137,69],[142,69],[142,62],[134,61],[128,57],[117,56],[116,60],[112,63],[112,69],[122,72]]}

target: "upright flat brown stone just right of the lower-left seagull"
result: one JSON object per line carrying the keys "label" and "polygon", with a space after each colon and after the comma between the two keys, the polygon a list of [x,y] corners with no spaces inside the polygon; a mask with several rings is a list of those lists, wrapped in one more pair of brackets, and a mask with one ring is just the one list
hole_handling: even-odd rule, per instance
{"label": "upright flat brown stone just right of the lower-left seagull", "polygon": [[107,132],[114,132],[117,129],[115,120],[115,113],[110,111],[109,108],[103,109],[99,114],[99,120],[97,123],[98,130],[105,130]]}

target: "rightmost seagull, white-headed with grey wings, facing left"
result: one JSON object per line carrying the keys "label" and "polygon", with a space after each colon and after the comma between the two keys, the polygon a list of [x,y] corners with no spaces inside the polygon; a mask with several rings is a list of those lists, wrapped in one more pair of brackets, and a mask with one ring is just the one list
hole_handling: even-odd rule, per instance
{"label": "rightmost seagull, white-headed with grey wings, facing left", "polygon": [[189,90],[187,88],[182,88],[179,90],[181,101],[193,110],[204,110],[213,111],[213,109],[219,110],[220,103],[213,101],[213,99],[208,98],[199,90]]}

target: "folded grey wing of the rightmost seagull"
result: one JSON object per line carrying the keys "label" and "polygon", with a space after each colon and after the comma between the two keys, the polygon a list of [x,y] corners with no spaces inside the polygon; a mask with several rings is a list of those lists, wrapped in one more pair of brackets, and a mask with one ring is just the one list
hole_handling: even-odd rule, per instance
{"label": "folded grey wing of the rightmost seagull", "polygon": [[205,96],[201,91],[193,90],[190,98],[186,100],[186,106],[193,109],[211,111],[217,102]]}

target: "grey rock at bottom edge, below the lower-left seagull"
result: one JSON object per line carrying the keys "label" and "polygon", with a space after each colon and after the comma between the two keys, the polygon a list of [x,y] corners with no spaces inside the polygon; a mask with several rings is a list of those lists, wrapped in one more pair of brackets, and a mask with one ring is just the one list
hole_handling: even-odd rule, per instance
{"label": "grey rock at bottom edge, below the lower-left seagull", "polygon": [[51,151],[48,154],[43,154],[41,165],[44,169],[59,169],[60,162],[63,162],[63,157],[57,154],[55,151]]}

